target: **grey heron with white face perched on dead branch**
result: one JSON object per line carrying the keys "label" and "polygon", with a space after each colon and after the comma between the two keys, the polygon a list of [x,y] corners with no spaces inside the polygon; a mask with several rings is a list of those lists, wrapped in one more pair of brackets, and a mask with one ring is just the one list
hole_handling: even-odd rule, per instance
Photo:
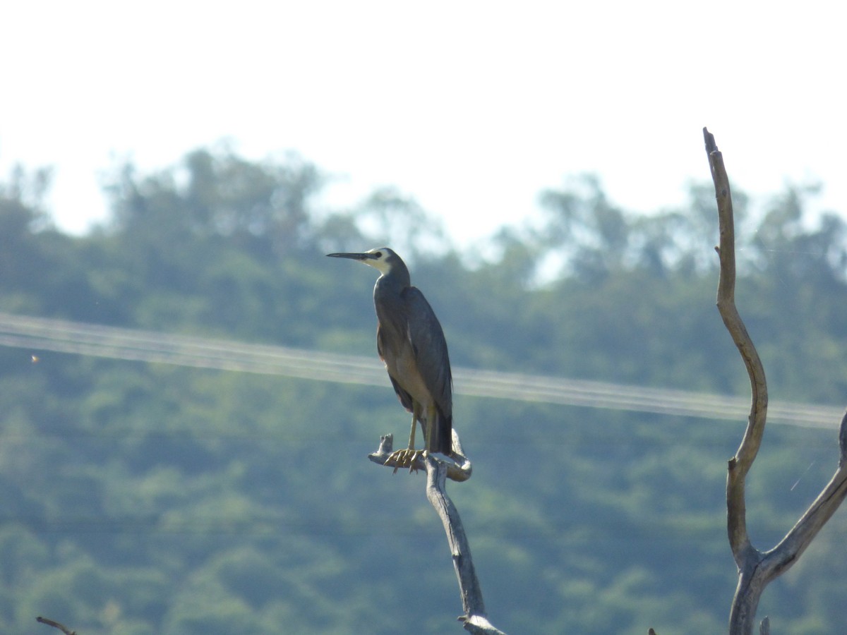
{"label": "grey heron with white face perched on dead branch", "polygon": [[[374,285],[376,348],[397,397],[412,413],[408,449],[394,452],[386,464],[411,468],[424,450],[450,456],[453,379],[447,342],[429,302],[412,286],[406,263],[388,247],[327,256],[357,260],[380,273]],[[415,450],[418,422],[424,450]]]}

